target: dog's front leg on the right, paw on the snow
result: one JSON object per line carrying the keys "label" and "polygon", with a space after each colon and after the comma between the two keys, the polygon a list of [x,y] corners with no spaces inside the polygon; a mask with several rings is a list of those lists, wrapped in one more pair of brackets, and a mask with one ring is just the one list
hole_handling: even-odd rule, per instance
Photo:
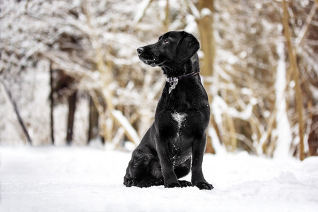
{"label": "dog's front leg on the right, paw on the snow", "polygon": [[192,183],[199,189],[213,189],[213,186],[206,182],[202,172],[202,162],[204,151],[206,149],[206,134],[204,133],[201,138],[196,139],[192,145]]}

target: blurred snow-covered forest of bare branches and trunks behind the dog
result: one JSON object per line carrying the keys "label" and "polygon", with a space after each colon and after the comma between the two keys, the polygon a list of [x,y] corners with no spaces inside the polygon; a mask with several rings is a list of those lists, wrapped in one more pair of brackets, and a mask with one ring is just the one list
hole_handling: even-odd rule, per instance
{"label": "blurred snow-covered forest of bare branches and trunks behind the dog", "polygon": [[136,48],[201,43],[206,151],[318,148],[317,0],[2,0],[0,144],[138,144],[165,84]]}

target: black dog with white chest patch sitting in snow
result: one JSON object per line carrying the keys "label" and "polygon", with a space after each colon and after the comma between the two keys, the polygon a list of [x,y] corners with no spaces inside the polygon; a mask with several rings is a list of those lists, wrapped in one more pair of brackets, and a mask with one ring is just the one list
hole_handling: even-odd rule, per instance
{"label": "black dog with white chest patch sitting in snow", "polygon": [[[199,76],[199,42],[186,32],[168,32],[137,49],[139,58],[160,66],[167,83],[155,122],[134,150],[126,169],[126,187],[199,187],[213,189],[202,173],[210,107]],[[192,170],[192,182],[179,181]]]}

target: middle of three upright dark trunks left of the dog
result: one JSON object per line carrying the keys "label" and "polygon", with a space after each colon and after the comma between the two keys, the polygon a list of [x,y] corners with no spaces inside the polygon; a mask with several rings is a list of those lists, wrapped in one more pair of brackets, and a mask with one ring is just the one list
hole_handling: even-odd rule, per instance
{"label": "middle of three upright dark trunks left of the dog", "polygon": [[74,91],[72,95],[69,96],[69,117],[67,122],[67,132],[66,132],[66,143],[71,145],[73,141],[73,125],[74,125],[74,115],[76,110],[76,94]]}

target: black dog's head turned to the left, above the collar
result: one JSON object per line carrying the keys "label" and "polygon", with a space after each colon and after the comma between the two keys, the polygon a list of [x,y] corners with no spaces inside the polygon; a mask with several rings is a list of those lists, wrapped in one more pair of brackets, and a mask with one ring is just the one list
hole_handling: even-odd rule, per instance
{"label": "black dog's head turned to the left, above the collar", "polygon": [[138,48],[137,52],[144,64],[176,69],[189,61],[199,48],[199,42],[193,35],[171,31],[161,35],[153,45]]}

